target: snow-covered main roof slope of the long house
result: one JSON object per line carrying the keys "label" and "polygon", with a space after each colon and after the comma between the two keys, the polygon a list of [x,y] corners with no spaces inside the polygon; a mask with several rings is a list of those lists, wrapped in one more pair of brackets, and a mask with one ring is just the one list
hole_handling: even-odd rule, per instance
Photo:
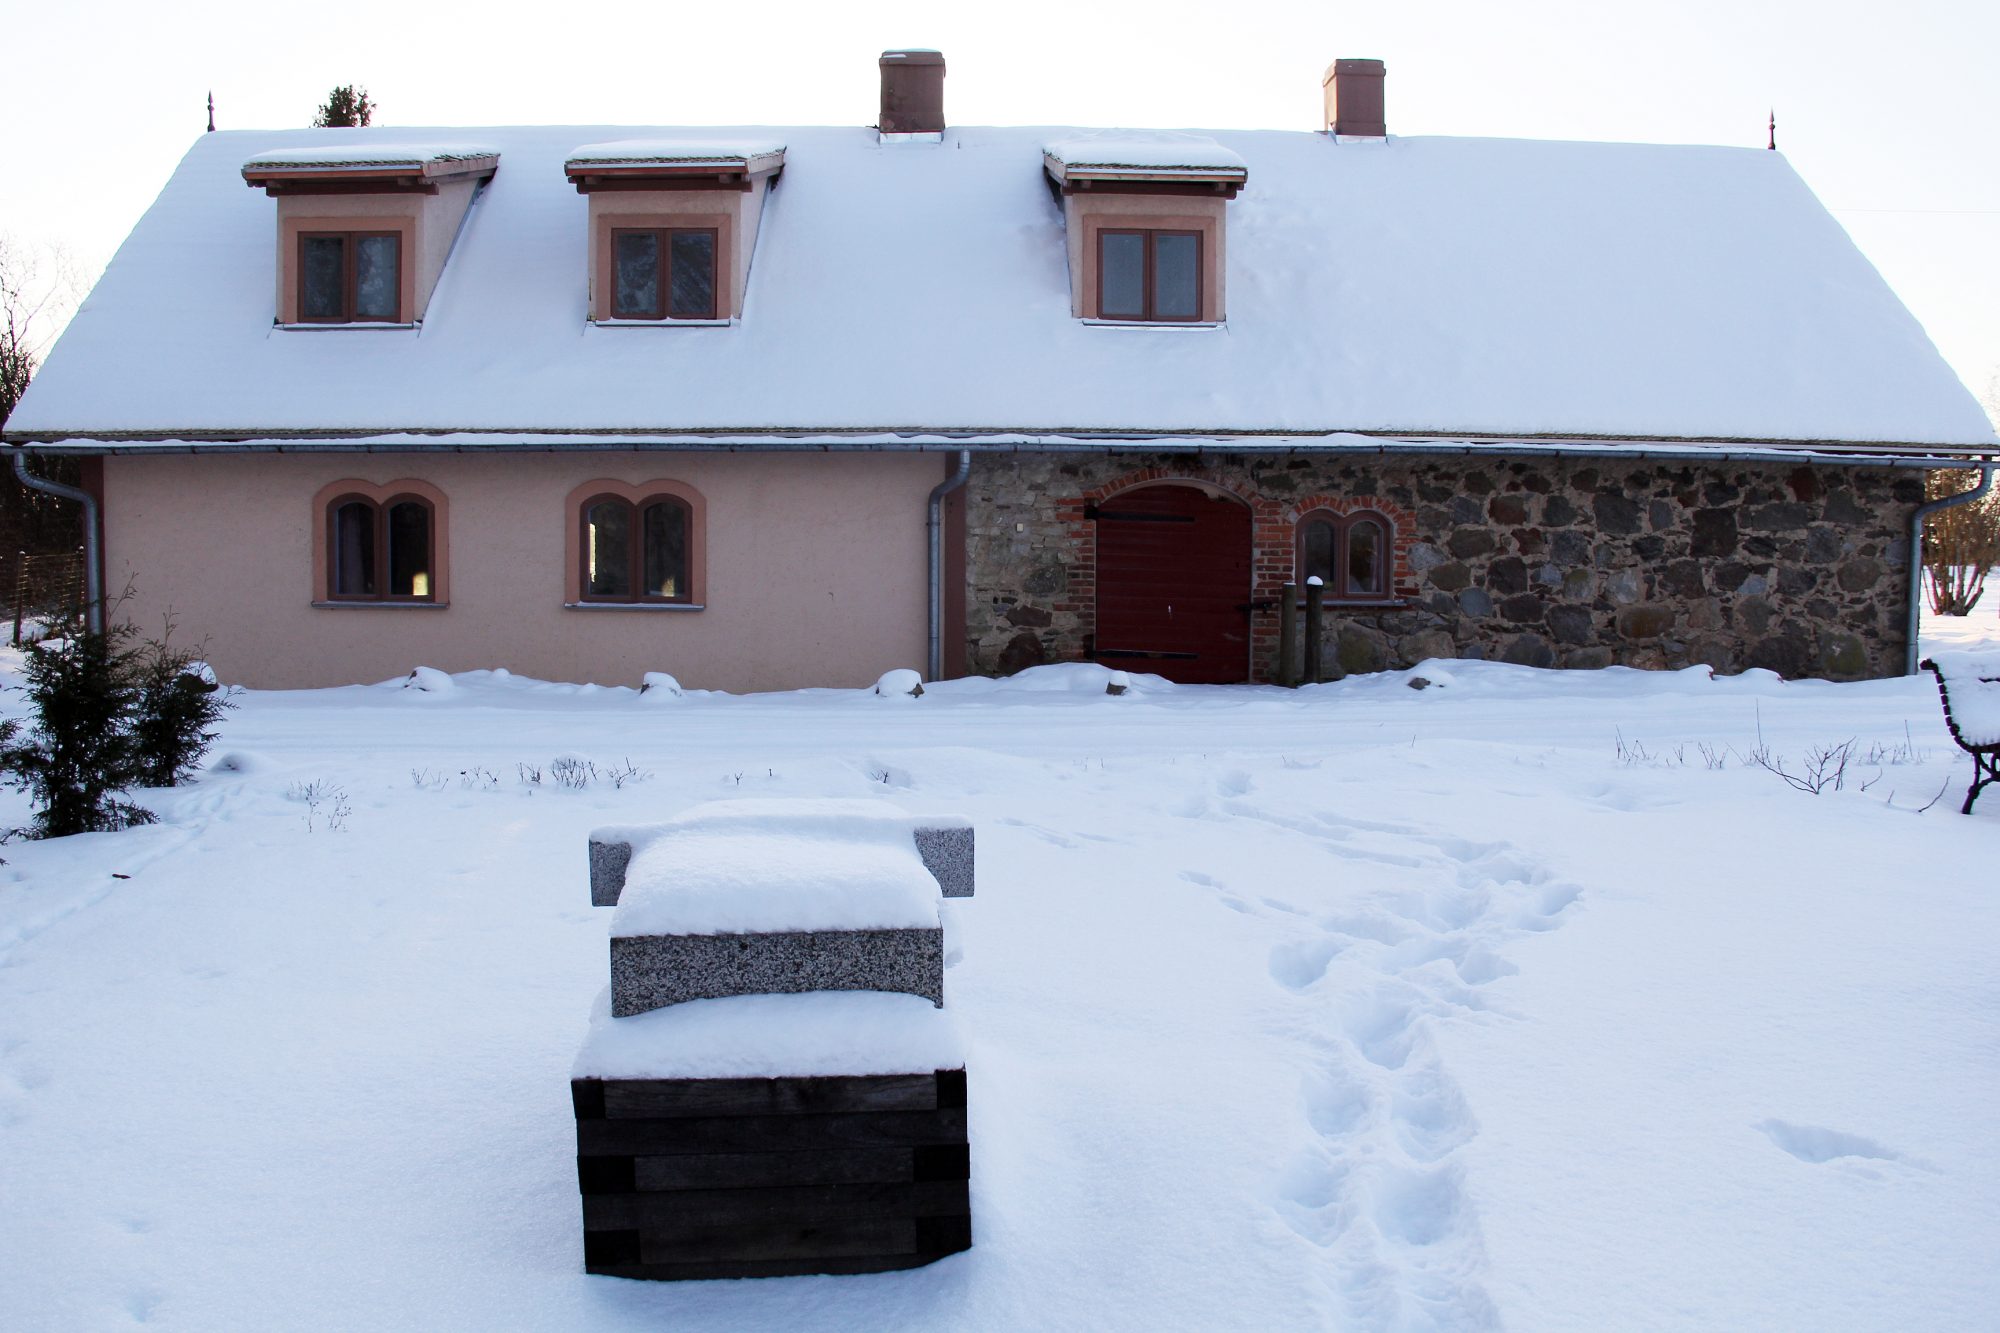
{"label": "snow-covered main roof slope of the long house", "polygon": [[[1782,154],[1204,130],[1204,164],[1226,152],[1248,172],[1226,206],[1228,322],[1146,328],[1070,316],[1044,150],[1090,134],[204,134],[8,438],[1402,432],[1996,446],[1972,394]],[[590,326],[588,200],[564,164],[584,144],[690,138],[786,146],[742,320]],[[432,140],[490,146],[502,166],[422,326],[274,328],[274,204],[242,188],[242,164]]]}

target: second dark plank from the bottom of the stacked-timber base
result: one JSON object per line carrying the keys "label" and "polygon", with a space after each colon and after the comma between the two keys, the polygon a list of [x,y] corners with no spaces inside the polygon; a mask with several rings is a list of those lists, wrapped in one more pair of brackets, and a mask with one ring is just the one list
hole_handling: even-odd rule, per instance
{"label": "second dark plank from the bottom of the stacked-timber base", "polygon": [[972,1203],[964,1181],[902,1185],[802,1185],[776,1189],[674,1189],[584,1195],[584,1231],[734,1227],[870,1217],[960,1217]]}

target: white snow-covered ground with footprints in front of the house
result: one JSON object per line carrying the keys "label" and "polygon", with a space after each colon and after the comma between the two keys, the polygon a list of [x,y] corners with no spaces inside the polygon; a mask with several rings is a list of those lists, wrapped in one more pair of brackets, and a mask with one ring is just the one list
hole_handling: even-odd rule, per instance
{"label": "white snow-covered ground with footprints in front of the house", "polygon": [[[0,1329],[1994,1327],[2000,793],[1928,675],[1108,675],[242,695],[160,825],[0,853]],[[732,797],[976,823],[972,1251],[582,1273],[586,835]]]}

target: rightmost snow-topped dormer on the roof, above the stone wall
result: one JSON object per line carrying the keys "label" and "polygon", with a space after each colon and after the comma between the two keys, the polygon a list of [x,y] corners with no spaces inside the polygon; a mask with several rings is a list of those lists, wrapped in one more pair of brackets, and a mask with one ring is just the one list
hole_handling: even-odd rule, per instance
{"label": "rightmost snow-topped dormer on the roof, above the stone wall", "polygon": [[1106,324],[1220,324],[1224,210],[1244,160],[1198,134],[1082,134],[1042,146],[1070,242],[1070,314]]}

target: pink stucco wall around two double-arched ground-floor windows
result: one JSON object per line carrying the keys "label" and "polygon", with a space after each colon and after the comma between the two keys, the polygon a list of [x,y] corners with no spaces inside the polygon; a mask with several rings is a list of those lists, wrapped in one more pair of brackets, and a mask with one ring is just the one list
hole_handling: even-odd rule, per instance
{"label": "pink stucco wall around two double-arched ground-floor windows", "polygon": [[[224,681],[296,689],[412,666],[692,689],[860,687],[924,664],[934,454],[232,454],[104,462],[106,586],[126,614],[208,640]],[[450,604],[312,602],[326,484],[422,480],[448,500]],[[564,498],[672,480],[706,510],[702,610],[572,610]]]}

